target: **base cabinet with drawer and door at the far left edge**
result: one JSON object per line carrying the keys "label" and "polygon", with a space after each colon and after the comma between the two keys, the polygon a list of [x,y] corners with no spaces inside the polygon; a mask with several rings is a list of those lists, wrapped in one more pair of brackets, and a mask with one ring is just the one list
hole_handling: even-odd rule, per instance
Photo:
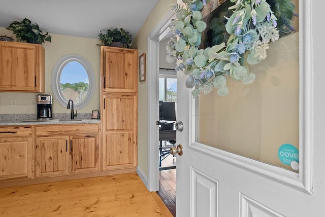
{"label": "base cabinet with drawer and door at the far left edge", "polygon": [[32,178],[31,126],[0,127],[0,180]]}

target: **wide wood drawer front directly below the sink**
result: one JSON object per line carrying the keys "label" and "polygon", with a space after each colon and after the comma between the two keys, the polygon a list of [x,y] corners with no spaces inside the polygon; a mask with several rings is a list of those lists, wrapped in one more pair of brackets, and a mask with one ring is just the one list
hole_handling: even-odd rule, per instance
{"label": "wide wood drawer front directly below the sink", "polygon": [[38,125],[36,136],[98,134],[99,124]]}

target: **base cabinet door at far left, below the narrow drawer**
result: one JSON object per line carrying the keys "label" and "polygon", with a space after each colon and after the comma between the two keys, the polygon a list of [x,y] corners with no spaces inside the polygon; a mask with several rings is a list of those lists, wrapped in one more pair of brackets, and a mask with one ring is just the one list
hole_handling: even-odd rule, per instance
{"label": "base cabinet door at far left, below the narrow drawer", "polygon": [[1,138],[0,150],[0,180],[31,178],[31,138]]}

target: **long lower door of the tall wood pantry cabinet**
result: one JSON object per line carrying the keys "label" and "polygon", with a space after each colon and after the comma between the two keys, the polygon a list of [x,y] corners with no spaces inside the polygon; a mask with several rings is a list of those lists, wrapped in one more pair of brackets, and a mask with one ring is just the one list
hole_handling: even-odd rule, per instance
{"label": "long lower door of the tall wood pantry cabinet", "polygon": [[105,95],[103,169],[137,166],[137,95]]}

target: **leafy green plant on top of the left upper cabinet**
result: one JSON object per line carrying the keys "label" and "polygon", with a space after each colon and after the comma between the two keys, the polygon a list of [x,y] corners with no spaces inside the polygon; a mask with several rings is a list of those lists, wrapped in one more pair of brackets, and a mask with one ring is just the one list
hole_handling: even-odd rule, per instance
{"label": "leafy green plant on top of the left upper cabinet", "polygon": [[42,44],[45,41],[51,42],[52,38],[48,32],[44,34],[38,24],[31,24],[31,21],[27,18],[21,22],[14,21],[6,29],[12,30],[18,40],[27,43]]}

